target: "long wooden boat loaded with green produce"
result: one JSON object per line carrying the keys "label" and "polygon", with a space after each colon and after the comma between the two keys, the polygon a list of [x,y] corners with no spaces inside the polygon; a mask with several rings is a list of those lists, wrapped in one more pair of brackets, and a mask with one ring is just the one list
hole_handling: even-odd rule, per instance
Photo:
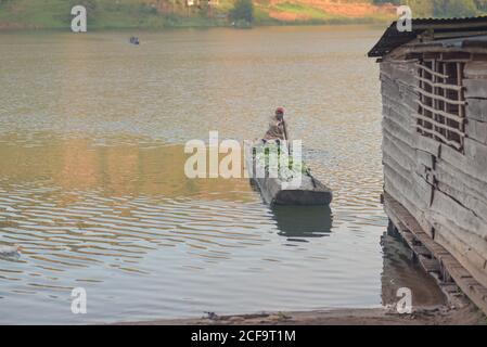
{"label": "long wooden boat loaded with green produce", "polygon": [[311,174],[302,174],[298,184],[289,184],[280,178],[256,177],[256,172],[265,172],[261,163],[255,159],[254,149],[264,145],[260,141],[254,146],[248,146],[245,153],[246,167],[251,176],[251,183],[260,191],[266,204],[269,205],[330,205],[333,200],[332,191],[313,178]]}

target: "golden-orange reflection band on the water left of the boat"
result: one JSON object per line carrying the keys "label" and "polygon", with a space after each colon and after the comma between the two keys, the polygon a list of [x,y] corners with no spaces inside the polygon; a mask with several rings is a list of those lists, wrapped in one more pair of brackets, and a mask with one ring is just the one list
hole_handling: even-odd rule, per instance
{"label": "golden-orange reflection band on the water left of the boat", "polygon": [[[5,183],[49,183],[69,191],[103,189],[110,196],[151,194],[248,201],[245,180],[188,179],[182,145],[119,143],[93,144],[89,139],[48,139],[37,136],[29,144],[0,138],[0,177]],[[221,196],[219,196],[221,197]]]}

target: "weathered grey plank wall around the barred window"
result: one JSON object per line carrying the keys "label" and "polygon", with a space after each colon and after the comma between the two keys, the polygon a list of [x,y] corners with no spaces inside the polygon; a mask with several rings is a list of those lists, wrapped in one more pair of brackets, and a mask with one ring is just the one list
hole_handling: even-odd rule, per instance
{"label": "weathered grey plank wall around the barred window", "polygon": [[464,153],[416,132],[415,63],[381,63],[385,191],[487,287],[487,60],[465,66]]}

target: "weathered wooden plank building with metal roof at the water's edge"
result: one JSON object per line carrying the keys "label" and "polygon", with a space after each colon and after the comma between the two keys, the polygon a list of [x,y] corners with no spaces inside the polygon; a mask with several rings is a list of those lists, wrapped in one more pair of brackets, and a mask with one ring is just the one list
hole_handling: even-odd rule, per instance
{"label": "weathered wooden plank building with metal roof at the water's edge", "polygon": [[393,23],[369,56],[386,213],[425,269],[487,313],[487,17]]}

